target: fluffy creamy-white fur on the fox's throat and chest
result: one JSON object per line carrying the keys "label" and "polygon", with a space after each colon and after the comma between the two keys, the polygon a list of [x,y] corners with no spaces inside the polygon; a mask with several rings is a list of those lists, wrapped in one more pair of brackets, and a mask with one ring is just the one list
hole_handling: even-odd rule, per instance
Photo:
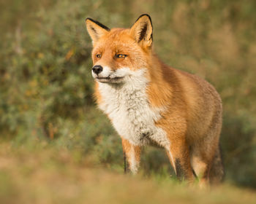
{"label": "fluffy creamy-white fur on the fox's throat and chest", "polygon": [[148,103],[145,70],[132,71],[122,85],[99,83],[102,109],[113,122],[118,134],[135,145],[154,141],[159,146],[168,146],[166,133],[155,125],[161,109]]}

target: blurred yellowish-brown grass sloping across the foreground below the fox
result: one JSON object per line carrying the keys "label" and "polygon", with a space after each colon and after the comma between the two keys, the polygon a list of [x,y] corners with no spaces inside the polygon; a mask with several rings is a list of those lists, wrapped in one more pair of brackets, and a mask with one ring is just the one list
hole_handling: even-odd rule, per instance
{"label": "blurred yellowish-brown grass sloping across the foreground below the fox", "polygon": [[255,203],[255,192],[224,184],[188,187],[168,177],[124,175],[90,155],[0,145],[1,203]]}

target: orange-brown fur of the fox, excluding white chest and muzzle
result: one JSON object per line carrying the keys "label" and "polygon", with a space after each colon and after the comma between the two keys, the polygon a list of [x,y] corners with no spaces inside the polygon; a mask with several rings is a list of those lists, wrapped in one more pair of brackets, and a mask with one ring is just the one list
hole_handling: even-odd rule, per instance
{"label": "orange-brown fur of the fox, excluding white chest and muzzle", "polygon": [[[193,169],[202,178],[202,183],[207,183],[211,179],[211,170],[222,169],[221,164],[212,166],[214,158],[219,159],[222,127],[222,101],[214,87],[198,76],[165,65],[157,58],[152,50],[153,29],[148,15],[142,15],[130,29],[102,31],[103,28],[98,28],[91,20],[86,20],[86,25],[94,40],[94,66],[108,66],[112,71],[124,67],[131,71],[146,68],[147,100],[151,109],[164,107],[155,125],[167,135],[170,146],[165,149],[177,176],[192,181]],[[116,58],[117,53],[127,57]],[[97,55],[101,57],[97,58]],[[100,94],[98,84],[96,82],[95,96],[100,105],[105,98]],[[140,162],[140,146],[124,138],[122,144],[129,164],[132,148],[135,160]],[[219,175],[219,180],[221,178]]]}

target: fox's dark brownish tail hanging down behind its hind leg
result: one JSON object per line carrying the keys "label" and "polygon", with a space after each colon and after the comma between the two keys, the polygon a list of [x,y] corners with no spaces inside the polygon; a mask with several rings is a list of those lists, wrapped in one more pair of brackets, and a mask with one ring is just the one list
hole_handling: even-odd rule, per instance
{"label": "fox's dark brownish tail hanging down behind its hind leg", "polygon": [[217,149],[217,152],[214,157],[214,161],[211,165],[211,170],[209,173],[209,178],[211,184],[219,184],[223,181],[225,176],[224,166],[222,163],[222,154],[220,146]]}

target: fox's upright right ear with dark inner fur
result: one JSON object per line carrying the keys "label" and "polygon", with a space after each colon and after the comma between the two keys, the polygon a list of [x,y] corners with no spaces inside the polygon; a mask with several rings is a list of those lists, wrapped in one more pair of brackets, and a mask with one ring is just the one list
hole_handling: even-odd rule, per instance
{"label": "fox's upright right ear with dark inner fur", "polygon": [[147,14],[140,15],[132,28],[130,28],[129,34],[136,42],[142,43],[143,46],[151,47],[153,42],[153,26],[151,17]]}

